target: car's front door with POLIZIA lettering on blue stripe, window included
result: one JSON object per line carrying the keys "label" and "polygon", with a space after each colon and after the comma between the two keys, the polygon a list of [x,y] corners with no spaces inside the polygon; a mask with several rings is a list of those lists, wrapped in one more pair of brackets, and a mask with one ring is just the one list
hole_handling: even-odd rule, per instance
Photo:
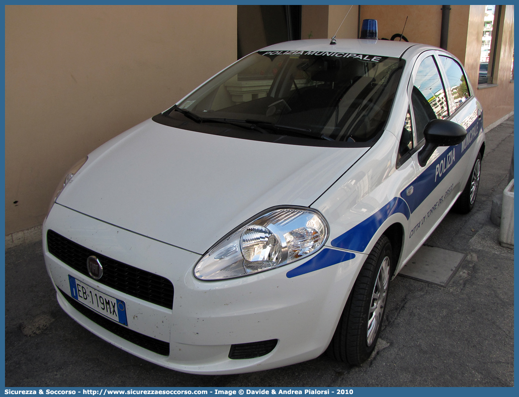
{"label": "car's front door with POLIZIA lettering on blue stripe, window included", "polygon": [[413,139],[416,142],[411,161],[417,178],[401,192],[411,213],[405,236],[404,262],[427,239],[465,186],[465,182],[461,182],[465,170],[458,165],[462,158],[461,144],[436,149],[427,164],[420,166],[418,152],[425,143],[424,128],[435,118],[457,122],[457,114],[470,124],[469,113],[472,112],[469,109],[471,106],[468,106],[470,94],[469,98],[463,96],[466,99],[459,102],[459,109],[454,109],[452,90],[437,51],[426,51],[418,57],[408,85],[408,96]]}

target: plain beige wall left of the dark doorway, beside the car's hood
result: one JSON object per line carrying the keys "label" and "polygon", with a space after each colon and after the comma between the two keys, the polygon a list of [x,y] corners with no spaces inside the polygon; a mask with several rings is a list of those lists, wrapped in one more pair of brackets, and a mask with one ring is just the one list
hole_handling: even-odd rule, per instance
{"label": "plain beige wall left of the dark doorway, beside the car's hood", "polygon": [[6,6],[5,23],[6,235],[42,223],[77,160],[236,60],[236,6]]}

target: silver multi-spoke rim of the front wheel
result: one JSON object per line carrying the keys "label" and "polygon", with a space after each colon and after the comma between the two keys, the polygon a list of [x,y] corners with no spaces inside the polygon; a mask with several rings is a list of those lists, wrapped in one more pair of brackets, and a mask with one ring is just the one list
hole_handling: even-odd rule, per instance
{"label": "silver multi-spoke rim of the front wheel", "polygon": [[389,286],[389,257],[382,260],[380,269],[378,270],[377,281],[373,287],[373,294],[371,297],[370,312],[367,316],[367,334],[366,344],[371,346],[382,322],[382,315],[384,307],[386,306],[386,298]]}

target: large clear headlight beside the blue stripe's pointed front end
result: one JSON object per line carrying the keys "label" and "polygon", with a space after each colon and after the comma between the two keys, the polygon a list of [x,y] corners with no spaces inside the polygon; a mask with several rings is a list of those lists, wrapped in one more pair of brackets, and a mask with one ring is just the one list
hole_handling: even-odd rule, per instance
{"label": "large clear headlight beside the blue stripe's pointed front end", "polygon": [[267,210],[215,244],[197,263],[200,280],[232,279],[274,269],[321,248],[328,224],[310,208]]}

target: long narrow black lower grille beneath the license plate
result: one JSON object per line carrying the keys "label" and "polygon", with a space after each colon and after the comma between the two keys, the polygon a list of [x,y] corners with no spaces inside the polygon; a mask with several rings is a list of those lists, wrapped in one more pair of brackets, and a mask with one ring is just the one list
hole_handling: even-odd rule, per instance
{"label": "long narrow black lower grille beneath the license plate", "polygon": [[114,323],[113,321],[106,319],[106,317],[103,317],[101,314],[98,314],[93,310],[90,310],[86,306],[81,305],[81,303],[76,301],[74,298],[71,298],[69,295],[65,294],[61,289],[60,293],[79,313],[83,314],[85,317],[87,317],[87,319],[93,321],[95,324],[103,327],[107,331],[110,331],[112,334],[126,339],[134,345],[140,346],[149,351],[153,351],[154,353],[161,355],[169,355],[168,342],[164,342],[162,340],[152,338],[151,336],[140,334],[123,325]]}

